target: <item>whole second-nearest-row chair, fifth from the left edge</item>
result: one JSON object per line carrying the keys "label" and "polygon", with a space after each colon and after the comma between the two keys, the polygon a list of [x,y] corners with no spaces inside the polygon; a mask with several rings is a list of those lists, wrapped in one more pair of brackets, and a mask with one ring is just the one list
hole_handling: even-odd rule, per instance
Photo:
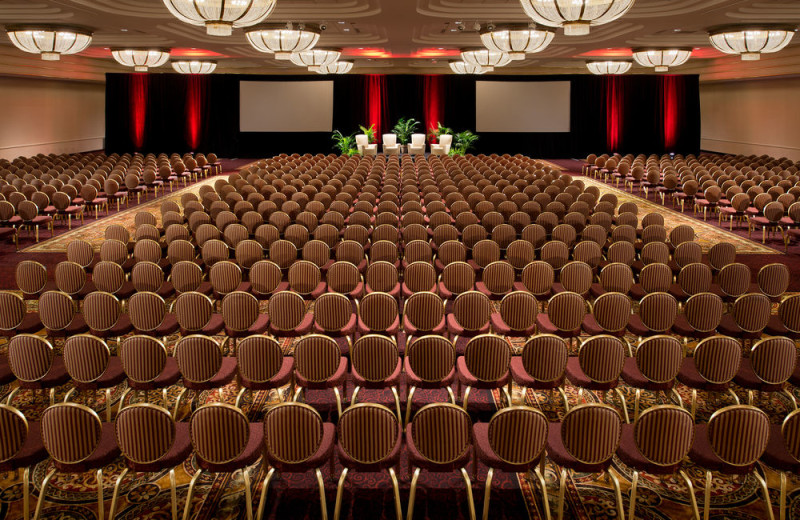
{"label": "whole second-nearest-row chair, fifth from the left edge", "polygon": [[289,386],[284,400],[288,400],[294,385],[294,358],[284,356],[280,344],[273,338],[254,335],[244,338],[239,343],[236,353],[238,368],[237,382],[241,387],[236,396],[236,406],[241,408],[245,392],[251,398],[254,392],[276,389],[278,397],[280,387]]}

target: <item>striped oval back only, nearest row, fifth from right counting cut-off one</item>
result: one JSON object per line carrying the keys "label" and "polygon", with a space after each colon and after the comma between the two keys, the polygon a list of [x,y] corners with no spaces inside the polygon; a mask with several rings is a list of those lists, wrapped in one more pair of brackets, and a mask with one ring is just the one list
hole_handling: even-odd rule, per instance
{"label": "striped oval back only, nearest row, fifth from right counting cut-off one", "polygon": [[489,420],[489,445],[507,464],[531,464],[539,460],[547,443],[545,415],[529,406],[512,406]]}

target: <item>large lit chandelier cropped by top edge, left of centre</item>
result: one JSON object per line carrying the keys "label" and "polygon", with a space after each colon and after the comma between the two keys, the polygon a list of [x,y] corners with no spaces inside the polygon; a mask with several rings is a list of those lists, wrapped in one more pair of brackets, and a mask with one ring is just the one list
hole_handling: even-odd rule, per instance
{"label": "large lit chandelier cropped by top edge, left of centre", "polygon": [[204,25],[212,36],[230,36],[234,27],[250,27],[275,9],[276,0],[164,0],[179,20]]}

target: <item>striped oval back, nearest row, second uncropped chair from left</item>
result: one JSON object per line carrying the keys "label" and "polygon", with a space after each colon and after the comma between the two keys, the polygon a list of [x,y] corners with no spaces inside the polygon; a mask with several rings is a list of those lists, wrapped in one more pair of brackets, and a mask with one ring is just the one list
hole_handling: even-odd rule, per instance
{"label": "striped oval back, nearest row, second uncropped chair from left", "polygon": [[164,457],[175,443],[175,420],[169,411],[149,403],[122,409],[114,421],[122,455],[137,464],[151,464]]}

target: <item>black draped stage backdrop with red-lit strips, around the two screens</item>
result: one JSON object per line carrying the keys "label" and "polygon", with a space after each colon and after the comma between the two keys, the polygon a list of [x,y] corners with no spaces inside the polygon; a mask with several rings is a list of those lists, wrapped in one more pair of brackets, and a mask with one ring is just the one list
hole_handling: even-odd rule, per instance
{"label": "black draped stage backdrop with red-lit strips, around the two screens", "polygon": [[[376,122],[387,132],[400,117],[475,129],[476,81],[572,82],[571,132],[481,133],[475,153],[524,153],[542,158],[593,152],[697,153],[697,76],[247,76],[108,74],[109,152],[205,151],[221,157],[328,153],[327,132],[239,131],[239,82],[333,81],[333,128],[355,132]],[[298,114],[302,117],[302,114]]]}

